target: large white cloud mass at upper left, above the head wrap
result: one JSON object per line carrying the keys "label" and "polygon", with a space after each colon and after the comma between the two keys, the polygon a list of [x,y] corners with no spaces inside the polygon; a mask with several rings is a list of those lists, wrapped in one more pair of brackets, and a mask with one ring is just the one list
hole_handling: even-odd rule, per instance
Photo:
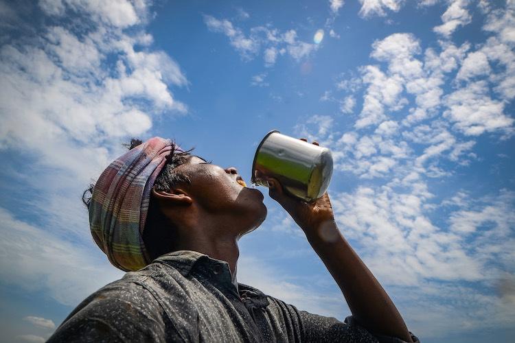
{"label": "large white cloud mass at upper left, above the head wrap", "polygon": [[[185,111],[167,83],[183,85],[187,80],[163,52],[135,52],[135,38],[106,34],[103,27],[82,40],[63,27],[51,27],[43,35],[48,44],[13,43],[0,49],[0,145],[4,148],[23,146],[40,151],[49,165],[76,169],[87,180],[92,176],[91,167],[80,171],[70,163],[73,158],[65,161],[56,151],[82,150],[88,145],[97,154],[102,139],[146,132],[154,113]],[[114,75],[100,67],[100,60],[107,56],[117,58]],[[150,102],[150,106],[137,106],[137,99]],[[67,139],[69,143],[62,144]],[[47,147],[52,144],[62,147],[50,151]]]}

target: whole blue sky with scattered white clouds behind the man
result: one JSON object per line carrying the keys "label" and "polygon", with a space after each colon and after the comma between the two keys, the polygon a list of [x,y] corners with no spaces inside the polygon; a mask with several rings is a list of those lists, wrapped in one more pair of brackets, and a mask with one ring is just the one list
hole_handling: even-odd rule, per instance
{"label": "whole blue sky with scattered white clouds behind the man", "polygon": [[[515,335],[514,1],[0,1],[0,19],[2,342],[43,342],[123,275],[80,202],[121,143],[174,138],[249,180],[272,129],[332,150],[339,228],[422,342]],[[238,280],[343,320],[265,203]]]}

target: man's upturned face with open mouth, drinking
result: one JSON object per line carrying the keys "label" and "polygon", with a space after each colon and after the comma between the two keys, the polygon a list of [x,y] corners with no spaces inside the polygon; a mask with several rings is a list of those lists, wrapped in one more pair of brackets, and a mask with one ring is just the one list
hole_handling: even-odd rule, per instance
{"label": "man's upturned face with open mouth, drinking", "polygon": [[222,168],[198,156],[176,168],[190,177],[187,191],[194,202],[216,217],[238,223],[247,233],[260,226],[266,217],[263,194],[258,189],[244,187],[242,177],[234,167]]}

